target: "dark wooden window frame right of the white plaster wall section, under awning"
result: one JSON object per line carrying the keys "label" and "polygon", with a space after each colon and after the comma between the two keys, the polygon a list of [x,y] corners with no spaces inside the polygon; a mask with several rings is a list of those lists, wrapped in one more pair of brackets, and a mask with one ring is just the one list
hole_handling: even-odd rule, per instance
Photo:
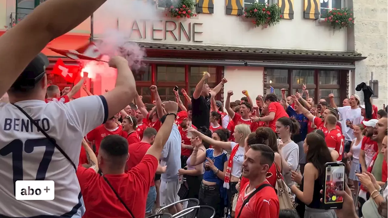
{"label": "dark wooden window frame right of the white plaster wall section, under awning", "polygon": [[[274,83],[268,83],[267,81],[267,69],[286,69],[288,70],[288,83],[287,84],[274,84]],[[273,87],[273,88],[288,88],[289,93],[292,93],[293,89],[302,89],[303,84],[293,84],[292,82],[292,71],[295,69],[290,69],[290,68],[274,68],[274,67],[268,67],[264,68],[264,73],[263,73],[263,81],[264,81],[264,95],[267,94],[267,88]],[[306,69],[307,70],[307,69]],[[339,84],[319,84],[319,71],[323,69],[310,69],[314,70],[314,83],[315,84],[307,84],[306,88],[307,89],[315,89],[314,97],[315,103],[317,103],[317,100],[319,99],[319,90],[320,89],[338,89],[340,92],[340,104],[342,104],[341,99],[345,99],[348,97],[349,93],[349,71],[347,70],[338,70],[339,72],[339,77],[338,79]]]}

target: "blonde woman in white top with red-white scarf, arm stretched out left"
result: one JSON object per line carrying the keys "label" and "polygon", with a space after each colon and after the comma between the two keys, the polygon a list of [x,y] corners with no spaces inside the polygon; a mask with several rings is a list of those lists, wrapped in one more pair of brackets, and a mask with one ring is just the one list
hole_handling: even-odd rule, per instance
{"label": "blonde woman in white top with red-white scarf, arm stretched out left", "polygon": [[227,189],[228,205],[231,211],[230,201],[232,196],[238,192],[236,190],[236,185],[240,180],[242,162],[244,162],[244,142],[245,138],[248,137],[248,135],[251,133],[251,129],[248,125],[245,124],[236,125],[233,132],[234,142],[216,141],[213,138],[207,137],[206,135],[200,133],[194,128],[189,128],[189,131],[194,135],[197,135],[199,138],[202,138],[204,142],[207,142],[211,145],[216,145],[217,147],[221,147],[225,150],[232,150],[232,152],[230,152],[228,166],[223,180],[223,187]]}

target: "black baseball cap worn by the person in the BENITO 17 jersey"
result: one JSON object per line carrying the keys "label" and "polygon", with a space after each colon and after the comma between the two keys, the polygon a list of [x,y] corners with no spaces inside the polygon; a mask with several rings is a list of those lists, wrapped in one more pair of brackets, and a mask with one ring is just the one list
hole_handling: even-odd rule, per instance
{"label": "black baseball cap worn by the person in the BENITO 17 jersey", "polygon": [[46,66],[49,66],[49,59],[43,53],[36,55],[34,59],[24,68],[23,72],[16,79],[11,88],[30,89],[40,81],[46,73]]}

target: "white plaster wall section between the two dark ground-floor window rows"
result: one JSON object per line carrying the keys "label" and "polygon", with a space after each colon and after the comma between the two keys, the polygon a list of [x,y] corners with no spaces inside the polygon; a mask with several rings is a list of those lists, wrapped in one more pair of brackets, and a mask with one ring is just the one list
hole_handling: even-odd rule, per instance
{"label": "white plaster wall section between the two dark ground-floor window rows", "polygon": [[225,67],[224,77],[228,80],[224,85],[224,101],[227,92],[233,90],[230,101],[240,100],[244,95],[242,90],[247,90],[253,102],[257,95],[263,95],[263,71],[264,67]]}

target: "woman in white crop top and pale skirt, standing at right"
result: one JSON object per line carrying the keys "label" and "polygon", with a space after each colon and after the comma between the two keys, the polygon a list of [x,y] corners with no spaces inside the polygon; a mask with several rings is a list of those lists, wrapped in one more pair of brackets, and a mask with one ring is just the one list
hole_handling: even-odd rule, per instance
{"label": "woman in white crop top and pale skirt, standing at right", "polygon": [[364,131],[364,125],[357,124],[353,126],[353,134],[356,137],[352,141],[352,145],[350,146],[349,153],[346,154],[346,157],[352,157],[352,165],[349,172],[349,184],[353,183],[354,190],[358,190],[359,187],[359,178],[356,176],[356,172],[360,172],[360,151],[361,151],[361,144],[362,144],[362,131]]}

